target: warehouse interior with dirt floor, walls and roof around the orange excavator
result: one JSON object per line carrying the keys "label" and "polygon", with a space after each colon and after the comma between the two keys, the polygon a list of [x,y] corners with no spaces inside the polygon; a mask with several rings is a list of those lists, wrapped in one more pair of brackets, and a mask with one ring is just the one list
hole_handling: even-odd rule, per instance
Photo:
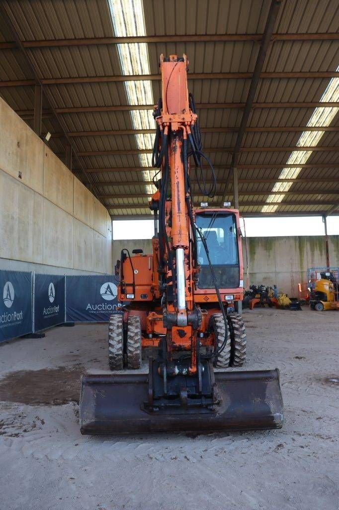
{"label": "warehouse interior with dirt floor, walls and roof around the orange excavator", "polygon": [[[335,0],[0,3],[0,506],[337,508],[338,20]],[[121,303],[112,308],[118,291],[105,292],[119,287],[115,265],[122,250],[153,250],[139,220],[155,218],[160,55],[189,61],[206,156],[201,169],[190,156],[192,206],[239,210],[241,370],[278,367],[279,430],[80,435],[80,375],[111,373],[107,321]],[[246,236],[252,218],[258,236]],[[320,232],[282,236],[291,218]],[[126,220],[126,236],[115,236]],[[309,301],[313,275],[334,282],[331,309]],[[11,336],[24,285],[31,326]],[[93,286],[106,308],[87,299]],[[81,297],[88,315],[76,310]]]}

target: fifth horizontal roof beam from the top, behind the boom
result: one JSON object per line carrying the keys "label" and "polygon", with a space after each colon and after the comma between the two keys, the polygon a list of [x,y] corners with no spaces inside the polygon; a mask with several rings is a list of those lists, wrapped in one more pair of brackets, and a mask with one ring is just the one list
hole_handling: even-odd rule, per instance
{"label": "fifth horizontal roof beam from the top, behind the boom", "polygon": [[[232,152],[233,147],[205,147],[206,152]],[[241,147],[240,152],[292,152],[295,150],[309,150],[317,152],[336,152],[339,146],[334,147]],[[152,154],[152,149],[118,149],[118,150],[84,150],[78,152],[78,156],[116,156],[116,155],[137,155],[137,154]],[[237,165],[234,165],[237,166]],[[300,166],[300,165],[299,165]],[[285,168],[284,165],[281,165]]]}

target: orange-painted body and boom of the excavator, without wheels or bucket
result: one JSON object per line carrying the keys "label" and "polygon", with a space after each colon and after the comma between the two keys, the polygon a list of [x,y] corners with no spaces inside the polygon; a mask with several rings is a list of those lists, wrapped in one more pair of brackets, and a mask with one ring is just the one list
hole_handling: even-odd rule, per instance
{"label": "orange-painted body and boom of the excavator, without wheels or bucket", "polygon": [[[187,66],[185,56],[182,59],[170,56],[166,61],[162,56],[160,57],[162,104],[160,115],[155,115],[155,120],[161,134],[159,151],[161,144],[168,139],[167,151],[163,154],[163,159],[167,158],[169,168],[164,205],[165,235],[162,239],[160,236],[153,238],[151,254],[135,253],[130,256],[129,253],[125,253],[127,250],[123,250],[117,275],[120,276],[118,298],[122,302],[128,302],[124,307],[125,321],[129,314],[140,317],[142,346],[156,346],[159,340],[165,337],[167,355],[170,358],[171,353],[175,351],[191,352],[189,372],[195,373],[197,338],[201,345],[215,345],[213,332],[209,329],[209,319],[220,309],[215,289],[199,288],[200,265],[193,260],[193,234],[188,207],[191,208],[193,219],[206,212],[206,209],[193,210],[185,183],[185,179],[188,179],[187,175],[185,177],[185,171],[189,173],[189,162],[187,158],[185,167],[182,149],[183,144],[187,143],[197,118],[189,107]],[[165,180],[163,162],[161,177]],[[155,210],[158,207],[159,200],[160,194],[157,191],[150,202],[151,209]],[[211,208],[208,211],[230,214],[235,218],[239,282],[235,287],[219,289],[224,306],[229,308],[243,298],[239,212],[226,208]],[[180,307],[178,304],[180,299],[175,292],[179,292],[180,282],[175,283],[176,275],[172,274],[173,270],[176,274],[179,271],[177,250],[183,250],[181,253],[183,253],[185,307]],[[161,253],[165,254],[164,263],[160,261]],[[173,298],[171,298],[172,291]],[[172,318],[170,325],[168,317]]]}

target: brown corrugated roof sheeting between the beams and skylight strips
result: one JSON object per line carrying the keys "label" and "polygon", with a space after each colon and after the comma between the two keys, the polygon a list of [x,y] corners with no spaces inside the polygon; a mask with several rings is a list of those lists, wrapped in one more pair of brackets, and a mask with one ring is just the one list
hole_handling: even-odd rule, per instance
{"label": "brown corrugated roof sheeting between the beams and skylight strips", "polygon": [[[190,0],[168,0],[155,2],[144,0],[146,33],[158,34],[261,34],[270,6],[269,0],[256,0],[248,3],[247,0],[220,2],[210,0],[201,2]],[[313,3],[300,0],[298,3],[284,2],[281,5],[278,21],[274,32],[280,33],[312,33],[335,32],[335,15],[338,6],[335,0],[327,2],[315,1]],[[9,11],[11,19],[18,29],[20,36],[25,40],[37,39],[63,39],[86,37],[109,37],[113,35],[108,3],[105,0],[59,0],[56,4],[51,0],[13,0]],[[6,27],[2,27],[0,20],[1,40],[8,39]],[[150,72],[158,74],[159,54],[187,53],[190,60],[191,72],[238,72],[252,71],[259,43],[252,41],[239,42],[173,42],[149,44]],[[26,64],[20,65],[19,50],[6,50],[0,68],[0,78],[23,79],[32,78],[30,69]],[[93,45],[71,47],[43,47],[30,50],[35,63],[39,68],[41,77],[78,77],[120,75],[121,68],[116,45]],[[274,41],[271,43],[266,58],[266,69],[270,71],[300,71],[300,70],[333,70],[336,68],[337,42],[335,41]],[[17,57],[15,57],[17,55]],[[21,59],[21,60],[20,60]],[[25,67],[26,66],[26,67]],[[1,74],[3,73],[3,74]],[[255,101],[260,103],[302,101],[316,102],[324,92],[328,79],[262,79],[259,83]],[[250,80],[189,80],[190,91],[195,96],[196,103],[245,103]],[[120,106],[127,105],[125,85],[117,83],[89,83],[72,85],[51,85],[48,87],[53,95],[53,104],[58,108],[86,107],[86,106]],[[160,82],[152,82],[155,101],[160,95]],[[34,87],[7,88],[0,90],[2,96],[15,109],[33,110]],[[298,131],[291,132],[246,132],[243,138],[243,147],[291,147],[286,151],[241,152],[239,164],[266,164],[280,165],[278,168],[239,168],[239,180],[242,179],[271,179],[276,180],[281,169],[288,161],[292,148],[300,137],[302,127],[306,125],[313,108],[255,108],[252,109],[248,125],[262,126],[295,126]],[[202,127],[234,127],[239,126],[242,109],[204,109],[198,112]],[[152,111],[148,112],[152,119]],[[130,111],[116,112],[87,112],[66,113],[60,115],[67,131],[107,131],[131,130],[132,120]],[[27,120],[33,125],[33,119]],[[153,120],[151,121],[153,126]],[[333,120],[332,125],[339,125],[339,116]],[[60,126],[53,117],[43,119],[43,132],[59,132]],[[207,156],[216,165],[217,191],[224,190],[232,198],[230,169],[226,167],[231,162],[231,152],[211,152],[209,147],[229,148],[234,146],[236,132],[207,132],[203,134],[203,143]],[[337,132],[326,132],[319,142],[324,147],[338,145]],[[65,138],[52,137],[49,146],[64,158]],[[76,137],[72,139],[76,150],[128,150],[137,147],[134,135],[104,135]],[[142,171],[130,171],[128,168],[139,167],[138,155],[122,154],[116,156],[81,157],[84,168],[117,168],[124,167],[126,171],[88,173],[88,181],[94,183],[94,189],[101,195],[120,194],[136,195],[146,192],[143,183]],[[337,152],[314,151],[307,161],[309,164],[337,163]],[[74,165],[78,164],[74,158]],[[223,167],[223,165],[225,165]],[[195,170],[191,168],[192,179],[195,179]],[[211,179],[209,171],[204,170],[208,180]],[[309,179],[309,182],[292,183],[290,192],[286,193],[277,212],[296,211],[324,211],[328,207],[322,205],[323,201],[336,199],[336,195],[324,195],[328,191],[329,183],[316,184],[312,179],[321,174],[330,179],[337,176],[337,168],[303,168],[299,177]],[[151,173],[146,180],[150,180]],[[79,174],[83,179],[83,175]],[[102,185],[98,184],[103,182]],[[117,185],[105,183],[120,183]],[[227,182],[227,184],[225,184]],[[241,183],[239,194],[243,202],[258,202],[258,206],[243,208],[248,213],[260,213],[263,200],[270,194],[274,183]],[[196,198],[200,198],[200,191],[194,182]],[[303,191],[314,191],[316,194],[303,194]],[[338,189],[337,183],[332,186],[333,191]],[[148,189],[149,191],[149,189]],[[293,194],[294,192],[295,194]],[[253,194],[254,193],[254,194]],[[265,195],[263,194],[265,193]],[[306,202],[319,200],[319,206],[291,206],[288,201]],[[211,200],[218,204],[220,197]],[[126,209],[126,199],[114,199],[114,213],[116,215],[149,214],[147,200],[129,199],[128,203],[135,204],[136,208]],[[113,207],[113,206],[112,206]]]}

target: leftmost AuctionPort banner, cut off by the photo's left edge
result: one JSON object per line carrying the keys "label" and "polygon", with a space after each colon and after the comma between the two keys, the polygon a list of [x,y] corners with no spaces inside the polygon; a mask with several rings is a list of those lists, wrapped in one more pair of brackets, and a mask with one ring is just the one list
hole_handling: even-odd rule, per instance
{"label": "leftmost AuctionPort banner, cut off by the photo's left edge", "polygon": [[32,273],[0,271],[0,342],[32,333]]}

